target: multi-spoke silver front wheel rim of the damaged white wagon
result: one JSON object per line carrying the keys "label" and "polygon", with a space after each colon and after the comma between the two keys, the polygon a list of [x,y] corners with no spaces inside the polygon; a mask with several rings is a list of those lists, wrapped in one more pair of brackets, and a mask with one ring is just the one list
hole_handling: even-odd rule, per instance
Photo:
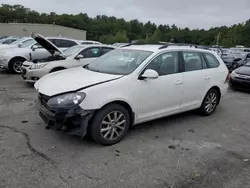
{"label": "multi-spoke silver front wheel rim of the damaged white wagon", "polygon": [[101,123],[101,135],[105,140],[116,140],[126,128],[125,115],[120,111],[113,111],[107,114]]}

